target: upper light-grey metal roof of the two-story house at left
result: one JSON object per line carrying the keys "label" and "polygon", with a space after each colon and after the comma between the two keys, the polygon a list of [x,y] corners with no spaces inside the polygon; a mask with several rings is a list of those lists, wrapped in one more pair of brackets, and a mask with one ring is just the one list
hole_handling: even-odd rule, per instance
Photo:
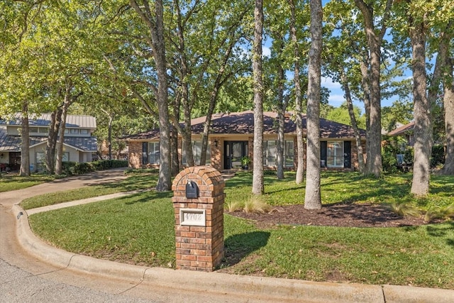
{"label": "upper light-grey metal roof of the two-story house at left", "polygon": [[[22,114],[15,114],[13,119],[9,121],[1,120],[0,124],[6,125],[21,125]],[[48,126],[50,124],[50,114],[31,114],[28,118],[29,126]],[[67,115],[66,116],[66,127],[69,128],[91,128],[96,129],[96,118],[94,116],[83,116],[83,115]]]}

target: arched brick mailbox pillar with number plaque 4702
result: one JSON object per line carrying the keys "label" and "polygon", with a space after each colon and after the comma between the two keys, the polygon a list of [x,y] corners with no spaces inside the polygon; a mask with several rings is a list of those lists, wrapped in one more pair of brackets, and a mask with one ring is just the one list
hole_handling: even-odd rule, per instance
{"label": "arched brick mailbox pillar with number plaque 4702", "polygon": [[188,167],[172,183],[177,269],[211,272],[223,258],[225,183],[213,167]]}

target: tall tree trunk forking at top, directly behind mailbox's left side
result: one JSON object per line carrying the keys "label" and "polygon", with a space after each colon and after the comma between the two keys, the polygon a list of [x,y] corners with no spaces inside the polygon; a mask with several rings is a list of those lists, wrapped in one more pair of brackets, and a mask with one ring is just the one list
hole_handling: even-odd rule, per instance
{"label": "tall tree trunk forking at top, directly behind mailbox's left side", "polygon": [[130,0],[131,6],[145,25],[151,35],[150,47],[153,50],[153,58],[157,70],[157,109],[159,114],[160,130],[160,167],[157,191],[163,192],[170,190],[170,125],[169,108],[167,100],[167,66],[165,59],[165,40],[164,40],[164,4],[162,0],[156,0],[154,11],[150,8],[148,0]]}

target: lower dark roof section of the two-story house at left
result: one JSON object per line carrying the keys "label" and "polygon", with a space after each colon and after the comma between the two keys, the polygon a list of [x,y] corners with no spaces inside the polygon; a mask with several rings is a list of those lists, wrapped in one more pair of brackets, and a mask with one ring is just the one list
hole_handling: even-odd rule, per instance
{"label": "lower dark roof section of the two-story house at left", "polygon": [[[30,137],[29,140],[30,146],[33,146],[45,143],[48,138]],[[97,150],[96,137],[67,137],[65,138],[65,144],[85,152],[96,152]],[[6,129],[4,127],[0,127],[0,150],[8,152],[21,151],[21,137],[10,136],[6,134]]]}

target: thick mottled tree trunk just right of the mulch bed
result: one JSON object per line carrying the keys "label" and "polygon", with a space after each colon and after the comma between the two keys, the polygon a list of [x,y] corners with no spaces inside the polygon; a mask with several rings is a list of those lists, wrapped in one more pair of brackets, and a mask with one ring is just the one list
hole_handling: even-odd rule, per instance
{"label": "thick mottled tree trunk just right of the mulch bed", "polygon": [[430,179],[432,126],[426,96],[426,33],[422,22],[412,24],[410,30],[413,50],[413,95],[414,95],[414,165],[411,193],[418,197],[428,194]]}

